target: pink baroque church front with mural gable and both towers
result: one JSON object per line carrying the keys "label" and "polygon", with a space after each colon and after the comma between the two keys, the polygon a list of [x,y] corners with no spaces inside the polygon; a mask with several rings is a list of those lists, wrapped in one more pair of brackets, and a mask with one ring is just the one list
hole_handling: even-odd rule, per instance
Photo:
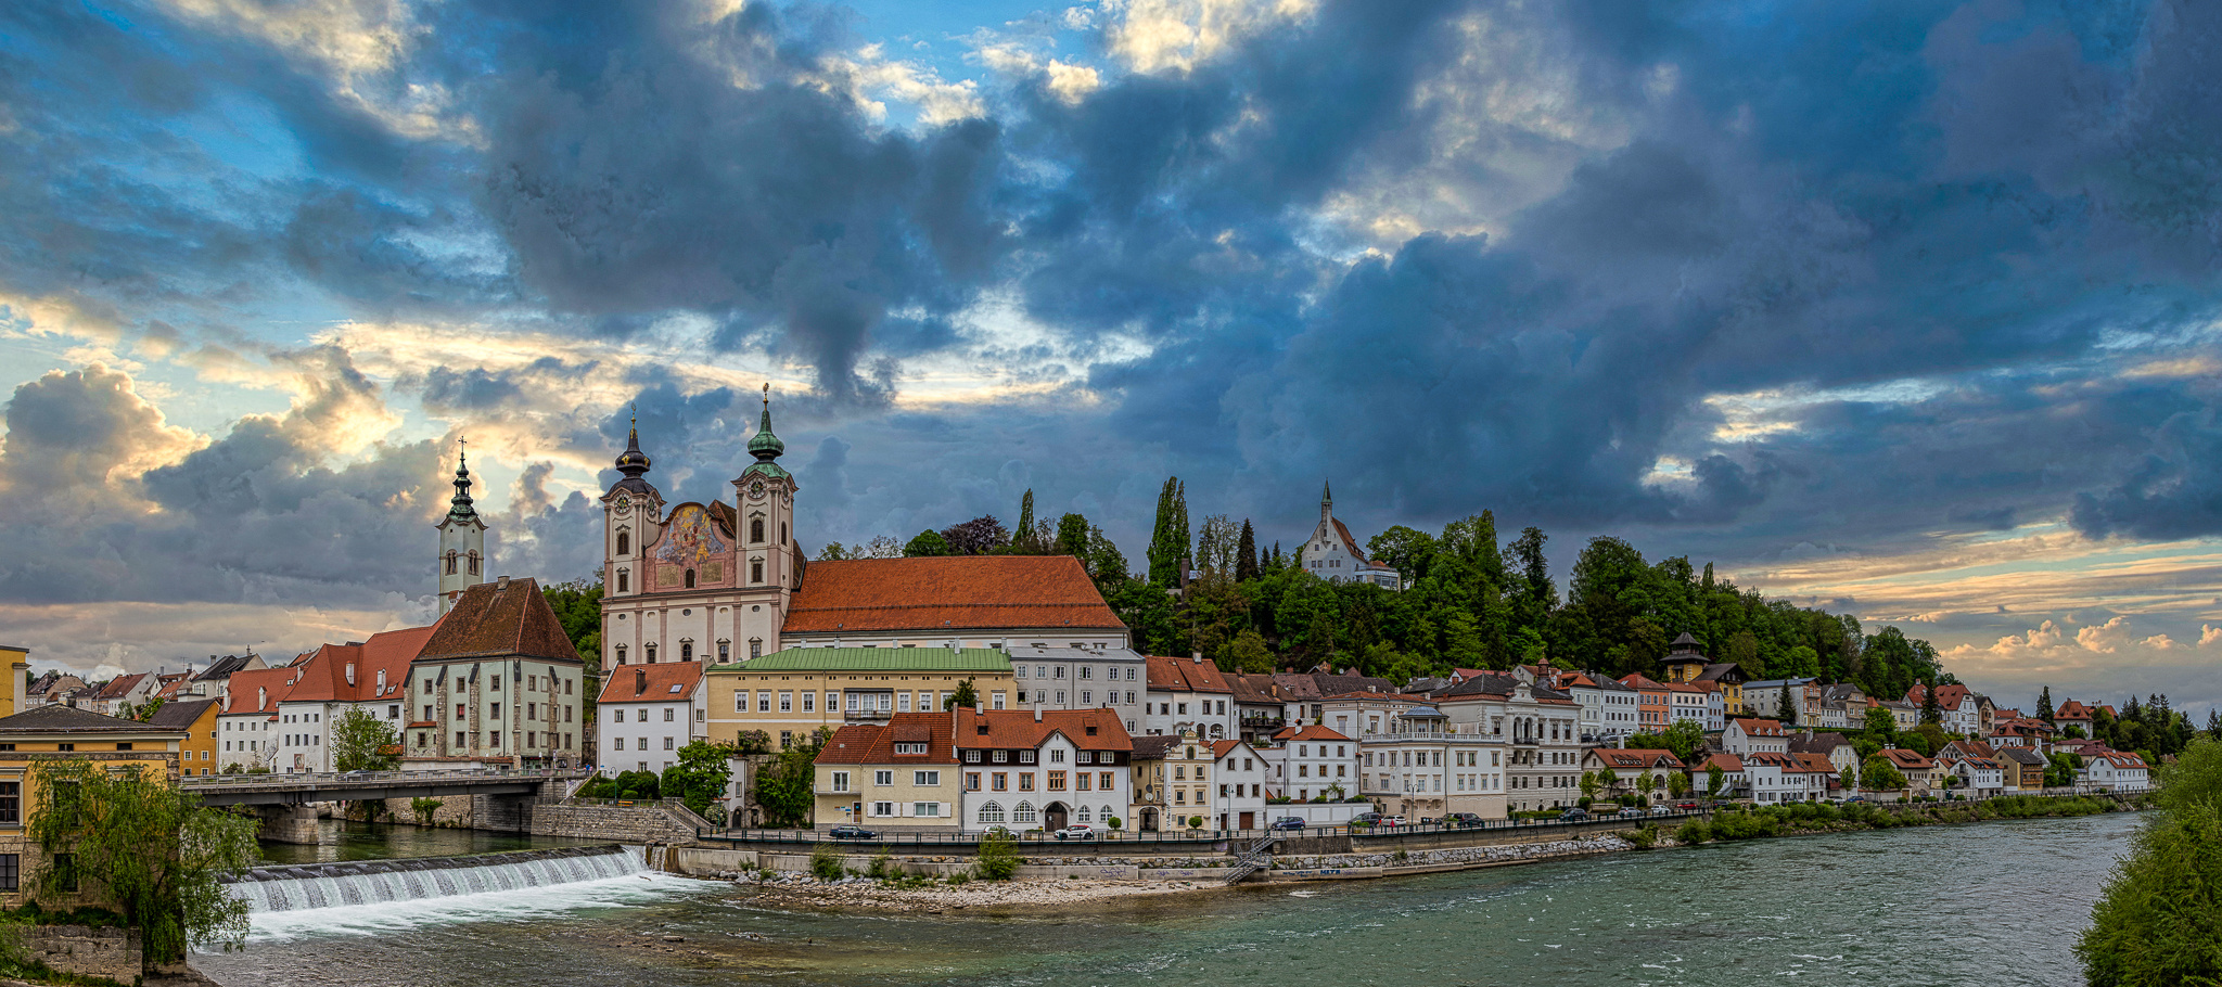
{"label": "pink baroque church front with mural gable and both towers", "polygon": [[731,502],[667,509],[647,480],[640,429],[618,456],[622,480],[602,493],[602,667],[735,662],[780,649],[789,600],[802,587],[795,476],[771,431],[771,387]]}

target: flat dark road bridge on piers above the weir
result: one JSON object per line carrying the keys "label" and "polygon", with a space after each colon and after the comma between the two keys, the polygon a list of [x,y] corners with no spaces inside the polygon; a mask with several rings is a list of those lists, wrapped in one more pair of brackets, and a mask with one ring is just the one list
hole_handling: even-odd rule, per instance
{"label": "flat dark road bridge on piers above the weir", "polygon": [[256,809],[262,816],[262,836],[269,840],[316,843],[318,814],[311,807],[318,802],[469,798],[473,829],[522,829],[531,820],[531,805],[553,802],[571,789],[571,782],[589,776],[591,769],[209,774],[180,778],[178,787],[200,796],[202,805]]}

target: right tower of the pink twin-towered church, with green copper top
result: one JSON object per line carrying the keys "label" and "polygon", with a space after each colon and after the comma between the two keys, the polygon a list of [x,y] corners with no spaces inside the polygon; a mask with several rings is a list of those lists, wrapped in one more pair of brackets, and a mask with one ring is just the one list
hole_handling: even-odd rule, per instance
{"label": "right tower of the pink twin-towered church, with green copper top", "polygon": [[749,658],[780,649],[780,622],[787,614],[787,598],[802,585],[795,565],[793,514],[795,476],[780,467],[787,442],[771,433],[771,385],[764,385],[764,416],[749,438],[749,456],[755,456],[740,476],[733,478],[733,507],[738,520],[738,580],[735,589],[751,602],[735,607],[742,611],[740,634],[747,640]]}

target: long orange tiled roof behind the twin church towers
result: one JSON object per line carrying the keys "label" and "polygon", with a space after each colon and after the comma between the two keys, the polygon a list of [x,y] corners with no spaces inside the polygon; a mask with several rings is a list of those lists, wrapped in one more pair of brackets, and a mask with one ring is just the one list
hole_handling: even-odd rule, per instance
{"label": "long orange tiled roof behind the twin church towers", "polygon": [[784,634],[991,627],[1127,629],[1078,558],[944,556],[811,562]]}

